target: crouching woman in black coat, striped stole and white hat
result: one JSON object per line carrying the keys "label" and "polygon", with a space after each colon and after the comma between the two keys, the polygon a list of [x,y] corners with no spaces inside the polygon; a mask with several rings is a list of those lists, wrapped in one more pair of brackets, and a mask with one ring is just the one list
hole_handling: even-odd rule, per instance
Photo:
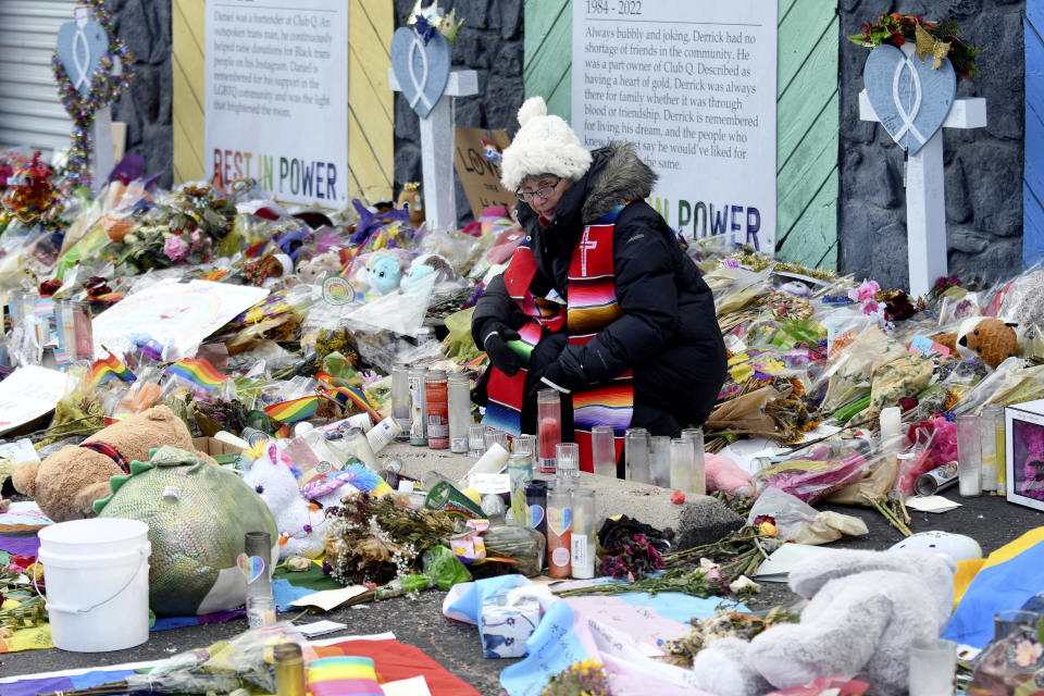
{"label": "crouching woman in black coat, striped stole and white hat", "polygon": [[725,376],[710,289],[645,202],[656,175],[631,145],[587,151],[539,97],[519,110],[501,182],[518,192],[525,240],[478,299],[489,356],[485,423],[534,433],[536,394],[561,393],[591,471],[591,428],[676,436],[709,415]]}

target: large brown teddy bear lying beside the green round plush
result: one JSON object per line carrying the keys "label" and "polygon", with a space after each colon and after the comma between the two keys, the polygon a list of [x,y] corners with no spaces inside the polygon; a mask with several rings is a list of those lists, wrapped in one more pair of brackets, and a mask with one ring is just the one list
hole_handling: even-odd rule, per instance
{"label": "large brown teddy bear lying beside the green round plush", "polygon": [[11,481],[55,522],[94,517],[95,500],[112,493],[109,480],[128,473],[133,460],[148,461],[149,450],[163,445],[213,461],[196,451],[185,423],[158,406],[99,431],[82,445],[62,447],[42,462],[20,463]]}

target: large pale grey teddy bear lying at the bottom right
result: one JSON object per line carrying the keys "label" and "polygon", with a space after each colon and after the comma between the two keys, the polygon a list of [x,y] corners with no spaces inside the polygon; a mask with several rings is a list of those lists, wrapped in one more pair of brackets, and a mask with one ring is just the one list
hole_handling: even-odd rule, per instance
{"label": "large pale grey teddy bear lying at the bottom right", "polygon": [[844,550],[799,563],[791,589],[811,598],[800,621],[750,643],[716,641],[693,660],[697,685],[719,696],[757,696],[861,673],[877,694],[904,694],[910,644],[939,637],[949,620],[955,569],[946,556],[904,550]]}

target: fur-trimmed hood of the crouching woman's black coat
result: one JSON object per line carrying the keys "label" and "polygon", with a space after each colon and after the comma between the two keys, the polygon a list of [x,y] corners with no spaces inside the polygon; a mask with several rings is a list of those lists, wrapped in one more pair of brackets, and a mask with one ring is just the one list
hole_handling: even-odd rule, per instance
{"label": "fur-trimmed hood of the crouching woman's black coat", "polygon": [[656,178],[630,142],[610,142],[595,150],[591,170],[580,182],[587,188],[581,222],[592,223],[625,200],[648,198]]}

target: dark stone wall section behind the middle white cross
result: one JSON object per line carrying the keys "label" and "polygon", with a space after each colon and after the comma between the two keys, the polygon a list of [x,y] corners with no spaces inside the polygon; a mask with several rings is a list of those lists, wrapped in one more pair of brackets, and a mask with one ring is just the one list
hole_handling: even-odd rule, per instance
{"label": "dark stone wall section behind the middle white cross", "polygon": [[[412,10],[414,0],[395,0],[396,26]],[[425,4],[428,4],[425,2]],[[453,45],[453,67],[478,73],[478,94],[457,100],[457,125],[468,128],[518,129],[514,119],[522,105],[522,0],[443,0],[445,10],[457,9],[464,20]],[[395,191],[403,182],[420,182],[421,135],[418,116],[401,94],[395,99]],[[471,208],[457,183],[457,212],[471,220]]]}

